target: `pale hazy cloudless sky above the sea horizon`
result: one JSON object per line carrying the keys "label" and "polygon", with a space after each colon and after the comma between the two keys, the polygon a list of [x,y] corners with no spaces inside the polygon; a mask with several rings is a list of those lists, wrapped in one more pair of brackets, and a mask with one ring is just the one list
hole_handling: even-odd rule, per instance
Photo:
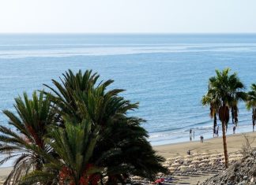
{"label": "pale hazy cloudless sky above the sea horizon", "polygon": [[252,33],[256,0],[1,0],[0,33]]}

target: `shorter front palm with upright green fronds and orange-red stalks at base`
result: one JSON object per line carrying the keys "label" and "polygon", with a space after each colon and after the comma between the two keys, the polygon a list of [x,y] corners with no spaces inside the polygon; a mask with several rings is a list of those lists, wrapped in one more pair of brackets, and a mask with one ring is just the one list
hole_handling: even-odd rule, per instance
{"label": "shorter front palm with upright green fronds and orange-red stalks at base", "polygon": [[[45,165],[47,168],[24,176],[21,184],[55,182],[61,185],[96,185],[104,171],[97,167],[97,162],[92,163],[92,154],[99,139],[98,129],[92,131],[92,123],[87,120],[78,124],[66,122],[65,128],[49,129],[48,135],[50,139],[47,143],[58,158],[40,151],[49,161]],[[101,154],[97,161],[104,159],[104,155]]]}

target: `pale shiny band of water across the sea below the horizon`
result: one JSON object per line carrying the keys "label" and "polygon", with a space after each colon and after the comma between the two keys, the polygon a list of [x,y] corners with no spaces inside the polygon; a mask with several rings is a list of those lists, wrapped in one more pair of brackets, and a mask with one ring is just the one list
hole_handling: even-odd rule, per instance
{"label": "pale shiny band of water across the sea below the horizon", "polygon": [[[1,45],[0,45],[1,46]],[[5,45],[2,45],[5,46]],[[122,54],[158,54],[158,53],[186,53],[186,52],[254,52],[256,44],[252,45],[81,45],[73,47],[73,45],[63,48],[33,49],[23,50],[0,50],[0,58],[24,58],[24,57],[71,57],[71,56],[102,56],[102,55],[122,55]],[[24,45],[27,46],[27,45]],[[30,45],[28,45],[30,46]],[[47,46],[47,45],[46,45]],[[51,45],[58,46],[58,45]],[[62,45],[60,45],[62,46]],[[63,45],[65,46],[65,45]],[[15,47],[14,47],[15,48]]]}

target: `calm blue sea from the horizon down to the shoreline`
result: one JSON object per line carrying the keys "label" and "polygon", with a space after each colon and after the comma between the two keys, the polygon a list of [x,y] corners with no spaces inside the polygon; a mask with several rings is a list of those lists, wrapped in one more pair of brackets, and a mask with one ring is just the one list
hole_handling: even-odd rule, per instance
{"label": "calm blue sea from the horizon down to the shoreline", "polygon": [[[256,83],[256,35],[0,35],[0,109],[13,110],[13,98],[69,68],[92,69],[140,102],[133,114],[148,120],[143,127],[152,145],[189,141],[190,128],[196,140],[207,139],[213,120],[201,97],[215,69],[226,67],[247,89]],[[2,113],[0,124],[7,125]],[[251,125],[240,103],[237,131]]]}

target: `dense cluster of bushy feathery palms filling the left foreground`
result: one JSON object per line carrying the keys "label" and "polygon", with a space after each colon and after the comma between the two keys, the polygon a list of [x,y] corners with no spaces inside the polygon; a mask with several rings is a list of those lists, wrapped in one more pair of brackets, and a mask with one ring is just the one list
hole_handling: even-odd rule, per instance
{"label": "dense cluster of bushy feathery palms filling the left foreground", "polygon": [[68,71],[46,85],[49,91],[16,98],[16,113],[4,111],[10,128],[0,126],[0,163],[14,159],[6,184],[117,184],[168,172],[147,141],[144,120],[130,116],[138,104],[99,77]]}

